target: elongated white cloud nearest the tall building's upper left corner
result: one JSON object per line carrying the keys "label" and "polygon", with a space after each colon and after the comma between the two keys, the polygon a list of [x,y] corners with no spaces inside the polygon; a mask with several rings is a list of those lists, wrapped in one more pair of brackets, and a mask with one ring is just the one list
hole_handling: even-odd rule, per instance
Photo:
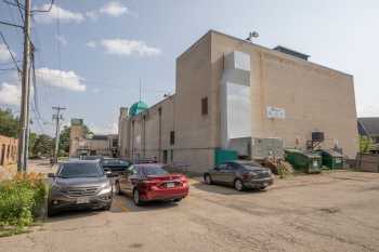
{"label": "elongated white cloud nearest the tall building's upper left corner", "polygon": [[108,54],[125,56],[133,54],[138,54],[140,56],[154,56],[160,54],[159,49],[148,47],[144,41],[141,40],[105,39],[100,43]]}

